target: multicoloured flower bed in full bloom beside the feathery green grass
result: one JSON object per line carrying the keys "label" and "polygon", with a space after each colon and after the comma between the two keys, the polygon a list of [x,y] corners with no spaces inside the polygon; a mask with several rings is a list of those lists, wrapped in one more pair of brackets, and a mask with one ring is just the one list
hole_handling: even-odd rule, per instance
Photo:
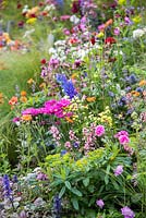
{"label": "multicoloured flower bed in full bloom beside the feathery green grass", "polygon": [[[145,218],[144,8],[126,0],[16,5],[41,59],[27,92],[7,99],[0,217]],[[36,29],[46,24],[57,29],[41,47]]]}

